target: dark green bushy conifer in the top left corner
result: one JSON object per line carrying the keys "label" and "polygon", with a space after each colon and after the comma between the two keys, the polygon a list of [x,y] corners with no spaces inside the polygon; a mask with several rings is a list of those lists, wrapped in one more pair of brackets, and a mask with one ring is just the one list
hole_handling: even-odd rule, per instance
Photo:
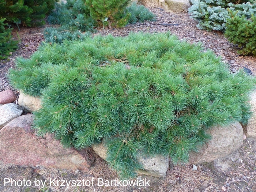
{"label": "dark green bushy conifer in the top left corner", "polygon": [[25,26],[43,25],[46,14],[54,8],[57,0],[0,0],[0,17],[7,22],[17,22]]}

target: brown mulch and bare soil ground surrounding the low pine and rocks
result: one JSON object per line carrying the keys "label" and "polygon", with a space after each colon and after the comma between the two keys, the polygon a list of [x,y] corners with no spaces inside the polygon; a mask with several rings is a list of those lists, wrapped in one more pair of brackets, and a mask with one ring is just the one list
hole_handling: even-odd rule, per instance
{"label": "brown mulch and bare soil ground surrounding the low pine and rocks", "polygon": [[[242,67],[251,69],[253,75],[256,74],[256,58],[252,56],[241,56],[237,54],[237,46],[230,44],[224,35],[218,31],[207,32],[198,30],[197,22],[187,13],[167,13],[159,7],[149,8],[156,16],[156,22],[136,23],[123,29],[97,29],[93,34],[113,36],[126,36],[131,31],[157,33],[166,32],[177,35],[180,40],[191,43],[200,43],[205,49],[211,49],[217,56],[222,57],[222,61],[227,63],[231,72],[236,72]],[[22,56],[29,58],[43,39],[45,25],[38,28],[22,28],[21,31],[15,27],[14,37],[19,40],[19,49],[14,52],[9,59],[0,61],[0,91],[11,89],[18,95],[19,91],[10,86],[7,73],[9,68],[15,67],[15,58]],[[16,32],[17,31],[17,32]],[[155,178],[150,176],[138,176],[138,180],[150,180],[147,187],[67,187],[55,186],[50,181],[56,180],[92,180],[98,178],[105,180],[117,179],[117,173],[111,170],[107,163],[97,155],[94,164],[89,172],[80,170],[56,170],[45,169],[43,167],[22,167],[5,166],[1,163],[0,157],[0,191],[1,192],[255,192],[256,191],[256,139],[246,138],[243,145],[236,153],[214,162],[196,165],[197,170],[193,170],[193,165],[172,165],[170,163],[165,178]],[[4,179],[30,180],[31,186],[4,186]],[[35,180],[45,182],[38,187],[33,183]],[[18,183],[17,183],[18,184]],[[19,183],[20,184],[20,183]],[[29,183],[28,183],[29,184]],[[59,183],[60,184],[60,183]]]}

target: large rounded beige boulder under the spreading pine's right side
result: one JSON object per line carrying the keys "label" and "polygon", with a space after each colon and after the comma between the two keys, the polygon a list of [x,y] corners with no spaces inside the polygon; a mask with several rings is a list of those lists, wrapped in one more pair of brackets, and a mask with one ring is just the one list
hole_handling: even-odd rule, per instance
{"label": "large rounded beige boulder under the spreading pine's right side", "polygon": [[238,122],[225,127],[212,127],[207,130],[207,133],[212,136],[212,139],[199,150],[199,153],[189,155],[191,164],[210,162],[226,157],[242,145],[244,138],[243,128]]}

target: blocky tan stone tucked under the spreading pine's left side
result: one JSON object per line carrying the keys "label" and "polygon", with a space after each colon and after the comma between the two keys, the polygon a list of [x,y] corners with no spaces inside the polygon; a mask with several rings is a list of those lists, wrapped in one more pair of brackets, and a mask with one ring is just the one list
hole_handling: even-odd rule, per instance
{"label": "blocky tan stone tucked under the spreading pine's left side", "polygon": [[20,91],[18,104],[26,112],[34,112],[41,108],[41,100],[39,97],[33,97]]}

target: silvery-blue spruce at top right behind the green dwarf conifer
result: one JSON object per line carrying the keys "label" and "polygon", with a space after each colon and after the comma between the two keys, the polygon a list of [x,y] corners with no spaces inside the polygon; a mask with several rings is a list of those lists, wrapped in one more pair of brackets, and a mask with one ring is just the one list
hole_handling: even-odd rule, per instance
{"label": "silvery-blue spruce at top right behind the green dwarf conifer", "polygon": [[198,20],[196,26],[208,31],[225,31],[229,17],[227,8],[237,11],[239,16],[245,15],[246,18],[256,14],[254,0],[191,0],[191,2],[189,14],[193,19]]}

